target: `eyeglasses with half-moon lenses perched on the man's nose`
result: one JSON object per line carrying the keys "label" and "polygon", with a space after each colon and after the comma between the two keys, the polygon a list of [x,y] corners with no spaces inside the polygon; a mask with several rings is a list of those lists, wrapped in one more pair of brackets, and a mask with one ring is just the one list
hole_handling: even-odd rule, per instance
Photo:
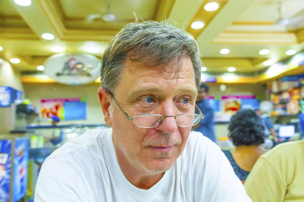
{"label": "eyeglasses with half-moon lenses perched on the man's nose", "polygon": [[[110,92],[109,92],[110,93]],[[205,118],[201,110],[197,105],[195,107],[198,109],[200,114],[179,114],[179,115],[160,115],[160,114],[139,114],[133,117],[130,117],[117,103],[117,100],[114,98],[112,93],[110,93],[113,100],[123,112],[123,114],[133,122],[133,124],[139,128],[155,128],[162,124],[166,117],[174,117],[176,125],[179,127],[192,127],[197,125],[202,119]]]}

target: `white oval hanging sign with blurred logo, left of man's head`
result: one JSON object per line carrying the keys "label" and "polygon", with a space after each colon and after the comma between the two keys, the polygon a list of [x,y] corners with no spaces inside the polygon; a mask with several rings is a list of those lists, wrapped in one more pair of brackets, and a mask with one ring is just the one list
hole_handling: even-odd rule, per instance
{"label": "white oval hanging sign with blurred logo, left of man's head", "polygon": [[56,54],[43,64],[45,74],[59,83],[82,85],[97,79],[101,62],[89,54]]}

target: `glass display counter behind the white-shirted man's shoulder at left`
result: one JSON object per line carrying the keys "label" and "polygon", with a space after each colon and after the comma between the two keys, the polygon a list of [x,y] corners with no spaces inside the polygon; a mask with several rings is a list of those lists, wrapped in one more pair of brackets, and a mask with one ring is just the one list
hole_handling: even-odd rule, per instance
{"label": "glass display counter behind the white-shirted man's shoulder at left", "polygon": [[28,188],[27,201],[33,201],[35,184],[45,159],[68,140],[78,137],[90,129],[109,128],[104,124],[87,125],[28,125],[26,136],[29,138]]}

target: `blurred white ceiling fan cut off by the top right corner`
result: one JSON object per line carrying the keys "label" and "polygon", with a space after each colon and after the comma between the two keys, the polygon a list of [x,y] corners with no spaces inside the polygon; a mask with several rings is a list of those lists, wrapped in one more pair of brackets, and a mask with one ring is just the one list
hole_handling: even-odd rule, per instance
{"label": "blurred white ceiling fan cut off by the top right corner", "polygon": [[276,25],[284,25],[288,30],[294,30],[304,26],[304,10],[297,13],[291,18],[284,18],[282,2],[279,2],[278,13],[279,13],[279,18],[275,22]]}

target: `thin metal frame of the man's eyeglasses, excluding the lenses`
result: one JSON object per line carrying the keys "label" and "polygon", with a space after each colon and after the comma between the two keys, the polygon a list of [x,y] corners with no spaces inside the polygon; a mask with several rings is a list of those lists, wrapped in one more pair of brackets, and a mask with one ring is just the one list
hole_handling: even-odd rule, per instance
{"label": "thin metal frame of the man's eyeglasses, excluding the lenses", "polygon": [[[192,125],[192,126],[180,126],[180,125],[177,124],[176,117],[181,116],[181,115],[201,115],[201,120],[205,118],[204,114],[201,112],[201,110],[200,110],[200,108],[197,106],[197,104],[195,104],[195,107],[198,109],[198,111],[200,112],[200,114],[178,114],[178,115],[138,114],[138,115],[135,115],[135,116],[133,116],[133,117],[130,117],[130,116],[122,109],[122,107],[118,104],[118,102],[117,102],[117,100],[115,99],[115,97],[113,96],[113,94],[112,94],[111,92],[108,92],[108,93],[112,96],[113,100],[115,101],[115,103],[117,104],[117,106],[119,107],[119,109],[122,111],[122,113],[125,115],[125,117],[126,117],[127,119],[129,119],[130,121],[132,121],[133,124],[134,124],[134,122],[133,122],[134,117],[140,117],[140,116],[162,116],[163,118],[161,118],[161,119],[159,120],[160,124],[159,124],[158,126],[160,126],[160,125],[162,124],[162,122],[164,121],[164,119],[165,119],[166,117],[174,117],[177,126],[182,127],[182,128],[186,128],[186,127],[195,126],[195,125],[197,125],[199,122],[198,122],[197,124],[195,124],[195,125]],[[134,124],[134,125],[135,125],[135,124]],[[135,126],[136,126],[136,127],[139,127],[139,128],[155,128],[155,127],[158,127],[158,126],[142,127],[142,126],[137,126],[137,125],[135,125]]]}

